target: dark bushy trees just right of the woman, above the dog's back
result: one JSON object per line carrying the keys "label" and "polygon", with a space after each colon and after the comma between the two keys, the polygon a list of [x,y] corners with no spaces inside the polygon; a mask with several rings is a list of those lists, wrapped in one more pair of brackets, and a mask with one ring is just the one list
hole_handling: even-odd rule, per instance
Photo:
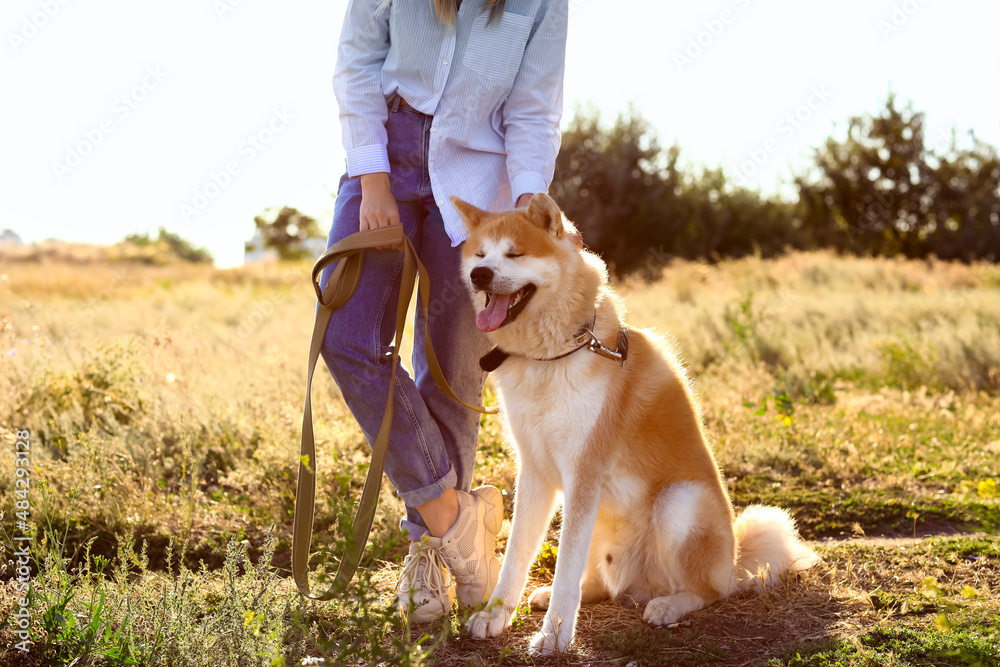
{"label": "dark bushy trees just right of the woman, above the dog's back", "polygon": [[773,255],[802,246],[792,207],[728,182],[721,169],[684,173],[634,111],[604,128],[578,112],[563,134],[550,191],[618,275],[656,277],[670,257]]}

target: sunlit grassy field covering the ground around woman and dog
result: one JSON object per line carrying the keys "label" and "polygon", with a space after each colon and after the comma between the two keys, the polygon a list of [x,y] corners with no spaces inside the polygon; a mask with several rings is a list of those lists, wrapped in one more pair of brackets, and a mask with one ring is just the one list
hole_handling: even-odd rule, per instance
{"label": "sunlit grassy field covering the ground around woman and dog", "polygon": [[[527,655],[542,615],[526,608],[489,642],[459,612],[401,626],[388,483],[349,595],[291,584],[308,268],[3,262],[0,664],[1000,664],[1000,267],[799,253],[620,284],[630,325],[669,332],[687,360],[734,503],[789,509],[822,563],[673,630],[586,607],[550,661]],[[318,550],[337,546],[368,449],[325,371],[313,391]],[[507,518],[513,480],[484,417],[476,483],[504,492]],[[529,587],[551,579],[558,518],[548,539]]]}

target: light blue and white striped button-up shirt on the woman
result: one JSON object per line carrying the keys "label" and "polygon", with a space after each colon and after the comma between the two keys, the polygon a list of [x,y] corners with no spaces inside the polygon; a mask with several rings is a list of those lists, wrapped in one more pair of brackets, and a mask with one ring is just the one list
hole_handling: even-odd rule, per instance
{"label": "light blue and white striped button-up shirt on the woman", "polygon": [[431,124],[431,189],[453,245],[465,226],[448,198],[508,210],[545,192],[559,152],[568,0],[507,0],[487,24],[465,0],[456,26],[431,0],[350,0],[334,92],[349,176],[388,172],[387,101],[399,93]]}

